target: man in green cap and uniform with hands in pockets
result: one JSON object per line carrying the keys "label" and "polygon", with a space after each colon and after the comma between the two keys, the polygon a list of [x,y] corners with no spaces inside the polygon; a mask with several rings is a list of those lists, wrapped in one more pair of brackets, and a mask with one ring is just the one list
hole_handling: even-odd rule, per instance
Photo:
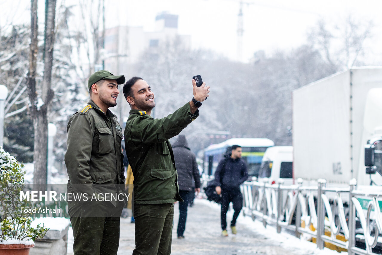
{"label": "man in green cap and uniform with hands in pockets", "polygon": [[123,75],[101,70],[89,77],[90,100],[68,121],[65,165],[74,255],[117,254],[126,205],[122,129],[108,108],[117,105]]}

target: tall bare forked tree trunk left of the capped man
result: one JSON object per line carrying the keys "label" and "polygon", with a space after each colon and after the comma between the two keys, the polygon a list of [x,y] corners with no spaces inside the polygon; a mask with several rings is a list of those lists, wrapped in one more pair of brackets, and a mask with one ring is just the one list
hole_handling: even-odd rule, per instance
{"label": "tall bare forked tree trunk left of the capped man", "polygon": [[[38,57],[38,22],[37,0],[31,1],[31,46],[28,72],[29,112],[34,125],[34,178],[36,190],[47,189],[47,137],[48,111],[52,103],[54,92],[51,88],[53,45],[55,41],[56,0],[45,2],[45,31],[43,63],[44,72],[42,83],[36,83],[36,61]],[[40,86],[39,86],[40,85]]]}

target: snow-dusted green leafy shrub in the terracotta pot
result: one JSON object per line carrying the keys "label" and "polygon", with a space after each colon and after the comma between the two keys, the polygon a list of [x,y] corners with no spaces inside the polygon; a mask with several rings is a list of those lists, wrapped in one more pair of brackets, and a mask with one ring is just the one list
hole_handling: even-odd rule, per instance
{"label": "snow-dusted green leafy shrub in the terracotta pot", "polygon": [[0,147],[0,243],[7,239],[35,241],[47,232],[44,226],[31,226],[33,204],[20,199],[25,188],[23,167]]}

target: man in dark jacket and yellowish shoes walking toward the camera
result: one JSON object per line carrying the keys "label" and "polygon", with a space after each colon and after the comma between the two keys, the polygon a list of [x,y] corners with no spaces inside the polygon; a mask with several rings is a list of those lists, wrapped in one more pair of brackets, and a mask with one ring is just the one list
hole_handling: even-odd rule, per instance
{"label": "man in dark jacket and yellowish shoes walking toward the camera", "polygon": [[232,202],[233,213],[231,221],[232,234],[237,234],[236,219],[240,214],[243,207],[243,195],[241,195],[240,185],[248,178],[248,171],[246,163],[241,160],[241,147],[239,145],[232,145],[231,153],[226,159],[222,159],[216,168],[215,183],[216,193],[222,194],[222,235],[228,236],[227,232],[227,211],[228,205]]}

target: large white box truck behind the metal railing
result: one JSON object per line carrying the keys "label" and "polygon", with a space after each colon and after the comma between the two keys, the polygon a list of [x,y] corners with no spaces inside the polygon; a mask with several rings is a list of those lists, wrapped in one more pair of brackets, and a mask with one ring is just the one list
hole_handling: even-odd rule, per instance
{"label": "large white box truck behind the metal railing", "polygon": [[[293,100],[293,178],[304,185],[382,185],[382,67],[360,67],[301,87]],[[374,147],[374,145],[376,145]],[[377,148],[377,149],[376,149]],[[373,166],[374,165],[374,166]],[[371,181],[372,180],[372,181]]]}

